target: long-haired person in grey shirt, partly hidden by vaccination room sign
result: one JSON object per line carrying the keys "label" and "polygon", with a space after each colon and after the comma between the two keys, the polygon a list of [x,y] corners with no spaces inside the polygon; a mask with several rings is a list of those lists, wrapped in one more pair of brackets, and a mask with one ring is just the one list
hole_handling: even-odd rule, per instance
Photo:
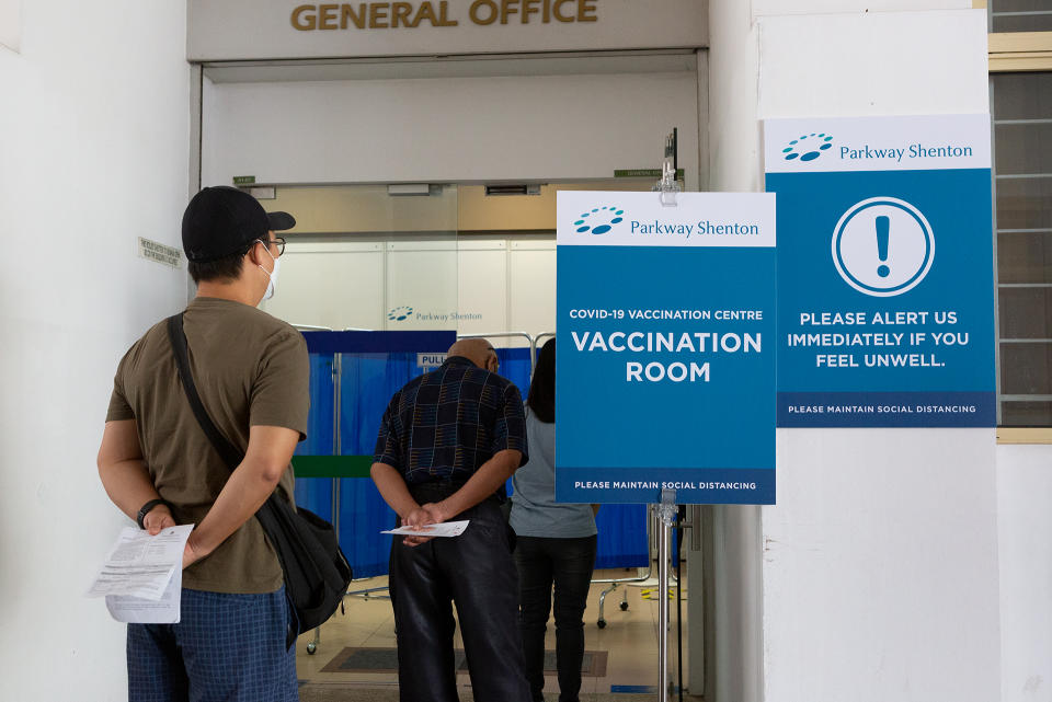
{"label": "long-haired person in grey shirt, partly hidden by vaccination room sign", "polygon": [[537,357],[526,399],[529,462],[512,479],[519,630],[526,679],[544,702],[545,631],[554,585],[559,702],[578,702],[584,658],[584,608],[595,566],[596,506],[556,502],[556,340]]}

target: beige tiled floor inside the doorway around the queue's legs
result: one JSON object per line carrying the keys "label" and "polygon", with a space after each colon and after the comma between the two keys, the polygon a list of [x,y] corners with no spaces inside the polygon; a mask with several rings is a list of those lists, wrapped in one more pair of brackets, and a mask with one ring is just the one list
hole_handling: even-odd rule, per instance
{"label": "beige tiled floor inside the doorway around the queue's legs", "polygon": [[[636,571],[626,572],[597,571],[596,578],[610,577],[632,577]],[[684,574],[685,575],[685,574]],[[686,578],[684,578],[686,580]],[[352,588],[366,588],[384,586],[387,583],[386,577],[377,577],[370,580],[363,580],[352,584]],[[585,649],[608,652],[606,677],[603,678],[583,678],[582,694],[597,692],[629,692],[642,687],[658,684],[658,600],[643,599],[644,591],[639,587],[618,586],[618,589],[607,595],[604,615],[607,625],[599,629],[596,625],[599,611],[599,594],[607,585],[593,584],[588,596],[588,607],[584,612],[585,621]],[[621,611],[619,603],[621,594],[628,592],[628,610]],[[684,656],[686,656],[686,582],[683,588],[683,614],[684,614]],[[656,588],[650,594],[653,598],[656,596]],[[676,606],[675,600],[670,601],[670,621],[672,629],[668,637],[668,661],[670,675],[675,680],[676,671]],[[459,629],[458,629],[459,631]],[[311,682],[341,682],[356,683],[363,687],[393,688],[397,684],[397,676],[387,674],[362,674],[362,672],[322,672],[321,669],[332,658],[339,654],[345,646],[370,646],[370,647],[393,647],[395,643],[395,617],[391,613],[391,603],[387,599],[362,599],[358,597],[346,598],[346,614],[336,613],[321,629],[321,643],[315,655],[307,654],[307,643],[312,638],[312,634],[305,634],[300,637],[297,645],[297,667],[301,680]],[[457,647],[462,647],[459,633],[456,636]],[[548,622],[548,635],[546,647],[554,651],[556,635],[554,625],[551,620]],[[688,684],[686,680],[686,670],[684,670],[684,686]],[[464,687],[470,687],[467,674],[459,675],[457,682]],[[558,691],[559,683],[556,676],[548,676],[545,690],[546,692]]]}

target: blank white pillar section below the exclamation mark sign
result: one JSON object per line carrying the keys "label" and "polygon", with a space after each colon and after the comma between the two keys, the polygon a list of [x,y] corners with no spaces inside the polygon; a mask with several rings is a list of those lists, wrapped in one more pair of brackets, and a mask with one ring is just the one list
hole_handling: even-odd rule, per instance
{"label": "blank white pillar section below the exclamation mark sign", "polygon": [[779,429],[767,700],[999,694],[993,429]]}

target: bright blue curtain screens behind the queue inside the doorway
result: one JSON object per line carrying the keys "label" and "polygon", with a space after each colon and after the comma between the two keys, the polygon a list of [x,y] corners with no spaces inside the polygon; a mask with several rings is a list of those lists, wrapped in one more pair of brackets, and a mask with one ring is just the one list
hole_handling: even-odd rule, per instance
{"label": "bright blue curtain screens behind the queue inside the doorway", "polygon": [[[309,338],[309,337],[308,337]],[[416,352],[376,350],[377,344],[355,342],[346,335],[341,359],[340,442],[342,456],[371,456],[380,417],[391,395],[410,379],[423,372],[416,366]],[[354,347],[365,346],[357,353]],[[331,344],[330,344],[331,346]],[[446,344],[448,346],[448,344]],[[432,348],[421,349],[432,352]],[[512,380],[525,400],[529,389],[528,348],[498,349],[501,375]],[[328,349],[310,354],[310,416],[307,440],[298,456],[333,454],[333,354]],[[384,529],[395,525],[395,513],[387,506],[367,477],[340,481],[340,545],[354,568],[355,577],[384,575],[388,571],[390,537]],[[332,520],[330,477],[301,477],[296,481],[296,503]],[[511,494],[511,481],[507,483]],[[633,567],[648,563],[647,508],[644,505],[605,505],[596,518],[599,529],[596,567]]]}

